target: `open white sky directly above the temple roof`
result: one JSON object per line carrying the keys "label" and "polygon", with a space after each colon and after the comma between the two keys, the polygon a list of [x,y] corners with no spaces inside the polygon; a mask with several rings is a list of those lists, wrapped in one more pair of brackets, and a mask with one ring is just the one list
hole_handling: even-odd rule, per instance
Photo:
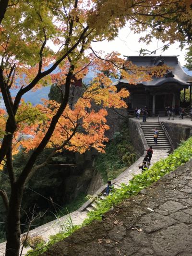
{"label": "open white sky directly above the temple roof", "polygon": [[[139,42],[139,37],[141,37],[141,34],[134,34],[129,28],[124,27],[120,30],[119,36],[115,38],[115,40],[110,42],[96,42],[92,44],[92,47],[96,51],[103,50],[106,53],[118,51],[121,57],[123,57],[123,55],[139,55],[141,48],[153,51],[164,45],[161,41],[157,41],[156,39],[154,39],[151,44],[146,45],[143,42]],[[164,52],[161,52],[161,50],[156,51],[156,55],[179,55],[178,59],[182,66],[185,64],[185,53],[185,49],[180,50],[179,43],[171,45],[169,49]]]}

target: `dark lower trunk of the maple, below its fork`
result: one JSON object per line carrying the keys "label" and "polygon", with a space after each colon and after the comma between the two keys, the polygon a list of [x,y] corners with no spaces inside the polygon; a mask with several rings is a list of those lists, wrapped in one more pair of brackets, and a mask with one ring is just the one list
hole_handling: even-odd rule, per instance
{"label": "dark lower trunk of the maple, below its fork", "polygon": [[12,185],[7,216],[7,244],[5,256],[18,256],[20,248],[20,211],[23,197],[23,186]]}

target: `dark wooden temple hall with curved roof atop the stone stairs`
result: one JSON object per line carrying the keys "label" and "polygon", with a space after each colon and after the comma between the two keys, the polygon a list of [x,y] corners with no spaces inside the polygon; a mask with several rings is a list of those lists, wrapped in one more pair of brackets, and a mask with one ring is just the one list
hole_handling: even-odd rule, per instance
{"label": "dark wooden temple hall with curved roof atop the stone stairs", "polygon": [[[192,104],[192,76],[185,73],[177,56],[125,56],[127,61],[132,61],[137,66],[154,66],[167,64],[171,67],[164,77],[153,77],[147,82],[137,85],[120,79],[115,83],[118,89],[127,88],[130,96],[127,99],[128,111],[147,107],[151,115],[165,115],[165,108],[190,107]],[[185,100],[185,90],[190,89],[190,99]],[[180,100],[180,93],[184,89],[184,102]]]}

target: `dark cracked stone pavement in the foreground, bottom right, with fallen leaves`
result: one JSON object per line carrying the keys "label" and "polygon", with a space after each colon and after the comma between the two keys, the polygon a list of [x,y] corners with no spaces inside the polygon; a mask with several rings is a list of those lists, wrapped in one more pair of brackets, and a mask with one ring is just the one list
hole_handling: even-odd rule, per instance
{"label": "dark cracked stone pavement in the foreground, bottom right, with fallen leaves", "polygon": [[42,256],[192,256],[192,161]]}

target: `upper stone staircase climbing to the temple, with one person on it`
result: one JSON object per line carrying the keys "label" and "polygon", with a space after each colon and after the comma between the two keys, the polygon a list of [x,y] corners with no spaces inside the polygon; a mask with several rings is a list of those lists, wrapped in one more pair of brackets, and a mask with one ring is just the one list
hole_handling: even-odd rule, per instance
{"label": "upper stone staircase climbing to the temple, with one person on it", "polygon": [[[147,141],[148,146],[153,146],[153,149],[170,149],[171,145],[166,137],[163,128],[159,122],[143,122],[141,127]],[[157,128],[159,135],[157,144],[154,142],[154,129]]]}

